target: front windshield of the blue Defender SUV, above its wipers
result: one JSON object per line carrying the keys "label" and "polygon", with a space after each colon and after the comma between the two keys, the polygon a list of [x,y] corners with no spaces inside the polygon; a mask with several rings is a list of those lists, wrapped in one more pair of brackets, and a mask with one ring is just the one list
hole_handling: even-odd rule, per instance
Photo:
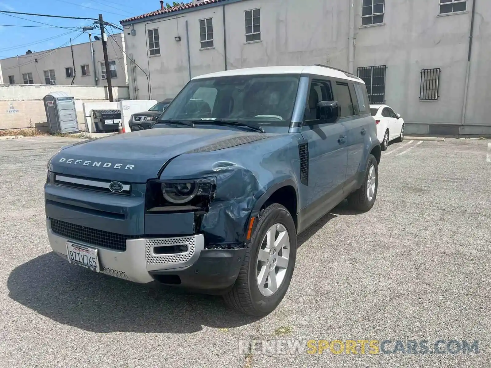
{"label": "front windshield of the blue Defender SUV, above its wipers", "polygon": [[300,76],[246,75],[191,80],[159,120],[228,120],[289,126]]}

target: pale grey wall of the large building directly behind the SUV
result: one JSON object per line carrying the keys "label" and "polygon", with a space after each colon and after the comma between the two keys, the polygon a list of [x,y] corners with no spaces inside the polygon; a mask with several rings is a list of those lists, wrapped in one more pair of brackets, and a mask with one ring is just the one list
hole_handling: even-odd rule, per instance
{"label": "pale grey wall of the large building directly behind the SUV", "polygon": [[[186,21],[189,28],[191,77],[224,70],[225,6],[228,69],[268,65],[327,64],[348,70],[351,0],[220,1],[193,11],[134,23],[125,30],[126,52],[150,79],[151,98],[175,97],[189,80]],[[411,130],[425,133],[431,125],[491,127],[491,6],[476,6],[465,121],[462,121],[472,0],[467,11],[439,16],[438,0],[385,0],[384,24],[361,26],[361,0],[355,9],[355,72],[358,67],[386,65],[386,103],[401,113]],[[261,9],[261,42],[245,43],[244,11]],[[200,50],[199,20],[213,17],[214,48]],[[129,28],[129,24],[124,25]],[[159,28],[161,55],[147,57],[147,29]],[[181,36],[176,42],[175,36]],[[438,101],[419,101],[421,69],[441,68]],[[129,66],[130,68],[130,66]],[[149,98],[147,77],[135,68],[130,91]],[[133,92],[133,95],[135,93]],[[132,96],[133,96],[132,95]],[[486,128],[488,129],[488,128]],[[461,131],[465,127],[460,128]],[[491,128],[490,128],[491,130]],[[473,130],[475,131],[475,130]],[[480,131],[484,131],[481,129]],[[490,131],[491,132],[491,131]]]}

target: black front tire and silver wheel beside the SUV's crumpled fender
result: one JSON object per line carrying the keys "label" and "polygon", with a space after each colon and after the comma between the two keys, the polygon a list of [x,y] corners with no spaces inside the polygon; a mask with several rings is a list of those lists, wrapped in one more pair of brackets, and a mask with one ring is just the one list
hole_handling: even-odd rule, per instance
{"label": "black front tire and silver wheel beside the SUV's crumpled fender", "polygon": [[[279,225],[279,227],[277,225]],[[275,228],[273,228],[273,226]],[[274,234],[275,239],[279,236],[279,234],[276,234],[278,229],[281,230],[283,239],[285,235],[288,235],[289,252],[288,262],[286,264],[284,263],[284,260],[280,260],[280,258],[284,258],[286,255],[283,247],[275,251],[275,253],[273,253],[273,251],[276,248],[272,248],[270,249],[270,252],[268,252],[266,238],[268,231],[272,228],[272,234]],[[263,249],[264,247],[266,247],[266,249]],[[267,258],[268,254],[270,254],[268,261],[263,262],[258,260],[260,250],[263,259],[265,259],[265,257]],[[279,255],[280,251],[282,256]],[[276,255],[276,258],[274,258],[274,255]],[[239,276],[232,286],[232,289],[223,295],[225,303],[229,307],[246,315],[264,316],[273,312],[281,300],[283,300],[283,297],[290,286],[293,270],[295,268],[296,256],[297,232],[292,215],[282,205],[273,203],[262,210],[256,218],[255,230],[252,233],[250,242],[247,246],[246,256],[244,257],[243,264],[239,271]],[[271,263],[269,263],[270,261]],[[274,266],[271,268],[269,266],[280,263],[282,263],[282,266],[285,265],[286,267],[282,268]],[[258,274],[259,265],[262,265],[262,267]],[[261,283],[258,281],[258,277],[261,276],[261,279],[266,281],[266,283],[263,282],[261,285],[263,285],[263,287],[264,285],[268,285],[268,288],[272,287],[272,284],[270,283],[271,276],[269,276],[272,272],[267,271],[268,269],[272,269],[275,274],[276,270],[278,270],[275,280],[279,281],[280,285],[272,294],[268,294],[269,289],[260,288],[259,284]],[[268,274],[268,276],[263,277],[263,275],[266,274]],[[272,287],[272,289],[274,288]],[[271,292],[271,290],[269,290],[269,292]]]}

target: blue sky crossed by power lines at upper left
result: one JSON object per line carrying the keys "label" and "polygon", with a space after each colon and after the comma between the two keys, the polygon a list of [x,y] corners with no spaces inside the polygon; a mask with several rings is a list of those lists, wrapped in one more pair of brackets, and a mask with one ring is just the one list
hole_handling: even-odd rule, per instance
{"label": "blue sky crossed by power lines at upper left", "polygon": [[[172,1],[164,0],[164,4],[165,2],[172,3]],[[0,0],[0,10],[88,18],[99,18],[99,14],[101,13],[106,22],[113,23],[117,26],[121,26],[119,21],[122,19],[148,13],[159,8],[159,0]],[[82,34],[81,29],[76,30],[73,27],[90,26],[92,22],[90,20],[59,19],[20,14],[7,15],[0,13],[0,25],[3,25],[0,26],[0,58],[23,55],[27,50],[39,52],[55,49],[63,44],[70,45],[70,38],[73,40],[77,36],[72,41],[73,44],[87,42],[88,35],[86,33]],[[68,27],[68,29],[50,28],[47,25]],[[109,28],[109,31],[119,32],[111,28]]]}

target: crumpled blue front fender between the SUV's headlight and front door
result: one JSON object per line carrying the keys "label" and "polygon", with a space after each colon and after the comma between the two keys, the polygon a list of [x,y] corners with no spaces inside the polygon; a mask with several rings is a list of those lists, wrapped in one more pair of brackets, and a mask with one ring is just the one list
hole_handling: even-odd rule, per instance
{"label": "crumpled blue front fender between the SUV's headlight and front door", "polygon": [[274,188],[288,183],[298,193],[297,139],[296,134],[285,134],[223,150],[181,155],[165,166],[159,179],[214,177],[215,197],[202,215],[199,232],[209,247],[241,247],[251,213],[264,204]]}

